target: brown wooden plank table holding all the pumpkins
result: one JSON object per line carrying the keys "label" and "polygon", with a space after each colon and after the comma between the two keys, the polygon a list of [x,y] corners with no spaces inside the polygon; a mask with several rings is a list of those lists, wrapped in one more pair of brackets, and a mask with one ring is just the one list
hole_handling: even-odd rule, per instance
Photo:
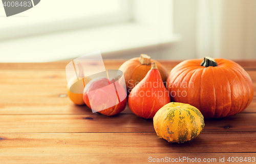
{"label": "brown wooden plank table holding all the pumpkins", "polygon": [[[255,93],[242,113],[205,120],[194,140],[171,144],[156,135],[152,120],[139,118],[128,106],[108,117],[74,105],[66,95],[68,62],[0,64],[0,163],[148,163],[165,157],[225,157],[227,162],[228,157],[256,157]],[[123,62],[104,61],[107,69]],[[168,71],[179,63],[160,62]],[[255,91],[256,61],[237,62]]]}

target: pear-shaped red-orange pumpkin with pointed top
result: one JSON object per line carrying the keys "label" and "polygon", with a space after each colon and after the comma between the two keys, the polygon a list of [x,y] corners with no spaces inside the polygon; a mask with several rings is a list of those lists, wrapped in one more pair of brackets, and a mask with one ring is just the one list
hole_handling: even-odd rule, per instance
{"label": "pear-shaped red-orange pumpkin with pointed top", "polygon": [[145,78],[132,89],[128,102],[132,112],[145,119],[153,119],[156,112],[170,102],[155,62]]}

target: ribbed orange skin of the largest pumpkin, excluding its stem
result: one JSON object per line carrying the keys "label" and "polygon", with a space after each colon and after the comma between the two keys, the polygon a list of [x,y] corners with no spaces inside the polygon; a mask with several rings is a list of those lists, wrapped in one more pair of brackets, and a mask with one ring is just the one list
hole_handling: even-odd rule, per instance
{"label": "ribbed orange skin of the largest pumpkin, excluding its stem", "polygon": [[[172,69],[167,79],[171,100],[195,106],[205,119],[223,118],[243,111],[253,98],[249,75],[231,60],[215,59],[218,66],[214,67],[200,66],[203,60],[185,60]],[[178,90],[187,95],[179,97]]]}

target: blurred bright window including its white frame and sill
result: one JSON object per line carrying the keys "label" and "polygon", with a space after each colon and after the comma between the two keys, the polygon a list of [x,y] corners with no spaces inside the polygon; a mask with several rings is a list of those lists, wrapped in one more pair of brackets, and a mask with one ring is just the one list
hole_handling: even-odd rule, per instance
{"label": "blurred bright window including its white frame and sill", "polygon": [[173,34],[172,0],[44,0],[3,20],[0,62],[65,60],[97,50],[111,58],[180,39]]}

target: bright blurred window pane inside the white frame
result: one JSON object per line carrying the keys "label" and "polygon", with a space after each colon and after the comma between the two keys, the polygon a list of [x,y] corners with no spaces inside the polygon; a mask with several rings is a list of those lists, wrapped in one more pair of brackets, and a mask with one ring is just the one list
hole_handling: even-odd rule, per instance
{"label": "bright blurred window pane inside the white frame", "polygon": [[131,19],[129,0],[44,0],[23,13],[2,18],[0,40],[108,25]]}

